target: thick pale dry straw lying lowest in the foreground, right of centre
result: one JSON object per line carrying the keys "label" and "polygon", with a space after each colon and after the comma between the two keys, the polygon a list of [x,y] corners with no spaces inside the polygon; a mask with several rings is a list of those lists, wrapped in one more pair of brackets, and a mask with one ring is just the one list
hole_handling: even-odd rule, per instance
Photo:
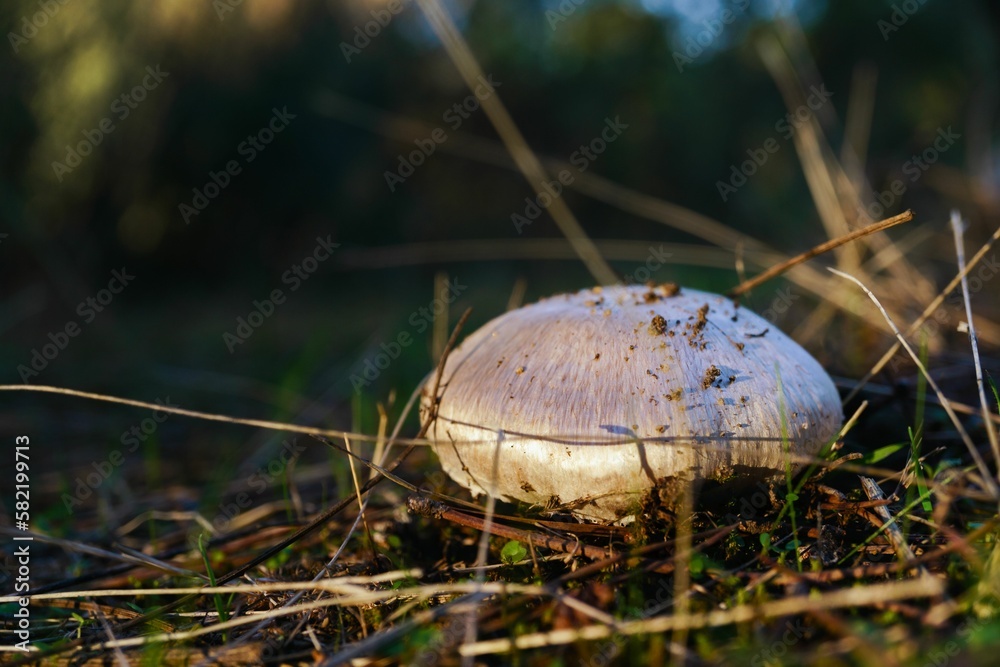
{"label": "thick pale dry straw lying lowest in the foreground, right of centre", "polygon": [[607,639],[615,634],[624,636],[654,634],[673,632],[682,628],[696,630],[699,628],[734,625],[761,619],[803,614],[814,609],[831,610],[866,607],[894,600],[936,597],[943,592],[944,584],[939,580],[931,577],[922,577],[911,581],[846,588],[822,595],[797,595],[783,600],[765,602],[760,605],[740,605],[733,609],[722,611],[689,614],[687,616],[656,616],[636,621],[623,621],[615,627],[588,625],[570,630],[526,634],[514,639],[493,639],[463,646],[460,651],[462,655],[493,655],[509,653],[514,650],[559,646],[578,641]]}

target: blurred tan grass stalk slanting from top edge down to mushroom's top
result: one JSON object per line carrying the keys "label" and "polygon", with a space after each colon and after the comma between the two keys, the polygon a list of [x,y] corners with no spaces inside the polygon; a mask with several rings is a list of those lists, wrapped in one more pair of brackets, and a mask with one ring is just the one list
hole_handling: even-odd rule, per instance
{"label": "blurred tan grass stalk slanting from top edge down to mushroom's top", "polygon": [[[427,16],[434,32],[437,33],[438,39],[444,44],[445,50],[447,50],[452,62],[455,63],[455,67],[458,68],[466,85],[471,90],[475,90],[479,82],[486,79],[486,75],[479,67],[479,63],[476,62],[476,59],[472,55],[472,50],[455,27],[451,17],[448,16],[444,7],[441,6],[440,0],[417,1]],[[500,139],[504,142],[504,145],[507,146],[511,157],[514,158],[518,168],[524,174],[532,189],[537,195],[545,193],[542,187],[543,183],[548,180],[545,169],[528,147],[528,143],[521,135],[521,131],[517,129],[517,125],[510,117],[510,114],[507,113],[507,109],[500,101],[496,91],[493,91],[491,95],[483,99],[482,105],[483,111],[490,119],[497,134],[500,135]],[[552,203],[549,205],[548,211],[597,282],[602,285],[610,285],[618,282],[618,276],[604,258],[601,257],[594,243],[587,237],[580,223],[569,210],[566,202],[561,197],[552,197]]]}

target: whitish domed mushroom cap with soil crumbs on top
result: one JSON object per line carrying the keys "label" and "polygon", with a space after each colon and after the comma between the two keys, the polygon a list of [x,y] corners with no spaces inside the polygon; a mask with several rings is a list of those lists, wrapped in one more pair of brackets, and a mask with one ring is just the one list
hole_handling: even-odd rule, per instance
{"label": "whitish domed mushroom cap with soil crumbs on top", "polygon": [[507,312],[452,351],[440,386],[428,437],[452,479],[604,522],[675,480],[783,473],[787,451],[817,453],[843,421],[833,381],[795,341],[672,284]]}

